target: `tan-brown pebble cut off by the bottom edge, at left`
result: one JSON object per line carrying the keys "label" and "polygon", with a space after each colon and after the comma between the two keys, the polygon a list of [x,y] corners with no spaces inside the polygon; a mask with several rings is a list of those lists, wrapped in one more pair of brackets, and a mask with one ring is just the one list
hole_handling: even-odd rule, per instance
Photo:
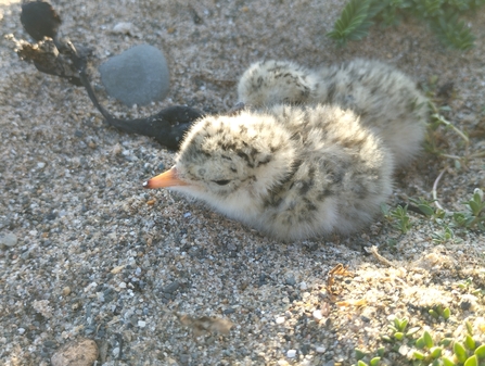
{"label": "tan-brown pebble cut off by the bottom edge, at left", "polygon": [[80,338],[64,344],[51,357],[52,366],[91,366],[98,358],[98,344],[86,338]]}

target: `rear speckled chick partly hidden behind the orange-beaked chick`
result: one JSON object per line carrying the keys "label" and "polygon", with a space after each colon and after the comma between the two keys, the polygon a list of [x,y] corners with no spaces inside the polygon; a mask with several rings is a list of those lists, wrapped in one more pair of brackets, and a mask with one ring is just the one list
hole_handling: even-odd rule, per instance
{"label": "rear speckled chick partly hidden behind the orange-beaked chick", "polygon": [[258,62],[242,75],[238,93],[240,102],[256,109],[278,103],[350,109],[387,144],[396,166],[414,157],[424,139],[425,97],[407,75],[379,61],[357,59],[317,71]]}

